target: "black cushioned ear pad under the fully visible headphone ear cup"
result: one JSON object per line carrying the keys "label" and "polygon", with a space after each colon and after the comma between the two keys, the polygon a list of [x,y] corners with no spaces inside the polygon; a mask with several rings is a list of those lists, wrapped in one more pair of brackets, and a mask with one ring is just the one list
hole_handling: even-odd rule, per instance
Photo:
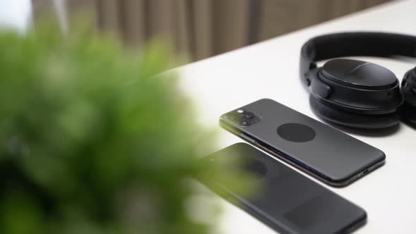
{"label": "black cushioned ear pad under the fully visible headphone ear cup", "polygon": [[353,113],[324,104],[312,95],[310,95],[309,102],[312,111],[319,118],[353,128],[388,128],[396,125],[400,120],[398,112],[374,115]]}

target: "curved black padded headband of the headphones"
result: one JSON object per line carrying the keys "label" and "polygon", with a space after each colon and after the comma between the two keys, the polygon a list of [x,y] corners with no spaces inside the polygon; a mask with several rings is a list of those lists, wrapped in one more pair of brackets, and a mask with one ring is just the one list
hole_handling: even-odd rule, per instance
{"label": "curved black padded headband of the headphones", "polygon": [[343,56],[407,56],[416,58],[416,37],[385,32],[341,32],[308,40],[300,51],[300,77],[316,62]]}

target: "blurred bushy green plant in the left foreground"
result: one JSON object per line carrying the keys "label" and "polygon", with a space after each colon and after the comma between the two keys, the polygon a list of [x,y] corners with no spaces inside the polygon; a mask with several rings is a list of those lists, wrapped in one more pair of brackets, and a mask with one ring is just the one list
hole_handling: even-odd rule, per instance
{"label": "blurred bushy green plant in the left foreground", "polygon": [[154,77],[175,59],[162,44],[135,54],[43,25],[1,32],[0,50],[0,233],[204,234],[184,179],[244,187],[238,171],[197,160],[214,136],[174,75]]}

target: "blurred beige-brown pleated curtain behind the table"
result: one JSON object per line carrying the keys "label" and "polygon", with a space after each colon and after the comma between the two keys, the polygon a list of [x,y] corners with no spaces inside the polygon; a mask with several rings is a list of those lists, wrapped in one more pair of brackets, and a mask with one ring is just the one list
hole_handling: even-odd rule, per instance
{"label": "blurred beige-brown pleated curtain behind the table", "polygon": [[[64,4],[139,46],[162,37],[196,61],[391,0],[32,0],[35,18]],[[59,6],[58,6],[59,7]],[[56,11],[56,10],[54,10]]]}

